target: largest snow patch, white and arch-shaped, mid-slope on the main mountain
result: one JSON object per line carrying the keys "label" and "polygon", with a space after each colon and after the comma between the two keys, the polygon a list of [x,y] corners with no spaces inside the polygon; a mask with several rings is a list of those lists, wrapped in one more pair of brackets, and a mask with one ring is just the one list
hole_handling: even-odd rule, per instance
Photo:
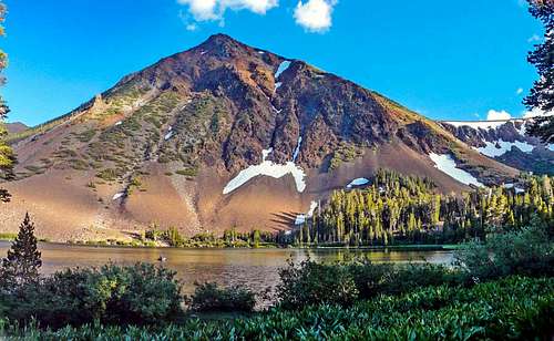
{"label": "largest snow patch, white and arch-shaped, mid-slope on the main mountain", "polygon": [[225,188],[223,188],[223,194],[229,194],[244,184],[248,183],[250,179],[257,176],[270,176],[274,178],[281,178],[287,174],[293,175],[295,179],[296,189],[302,193],[306,189],[306,173],[304,169],[294,162],[287,162],[286,164],[276,164],[271,161],[267,161],[267,156],[273,152],[273,148],[261,151],[261,163],[257,165],[252,165],[246,169],[240,170],[237,176],[230,179]]}

